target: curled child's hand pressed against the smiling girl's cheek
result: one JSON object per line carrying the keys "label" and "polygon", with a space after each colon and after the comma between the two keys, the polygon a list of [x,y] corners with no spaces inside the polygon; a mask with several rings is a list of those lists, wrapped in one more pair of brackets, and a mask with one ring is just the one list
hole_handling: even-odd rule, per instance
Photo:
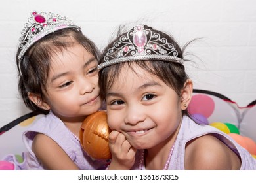
{"label": "curled child's hand pressed against the smiling girl's cheek", "polygon": [[118,131],[112,131],[109,135],[112,161],[109,169],[131,169],[135,163],[136,149],[126,140],[125,135]]}

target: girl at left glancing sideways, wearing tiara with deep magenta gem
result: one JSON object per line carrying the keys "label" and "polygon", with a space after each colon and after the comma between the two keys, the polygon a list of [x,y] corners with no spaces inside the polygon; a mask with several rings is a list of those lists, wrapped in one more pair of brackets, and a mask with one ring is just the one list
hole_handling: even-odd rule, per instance
{"label": "girl at left glancing sideways, wearing tiara with deep magenta gem", "polygon": [[18,86],[26,106],[45,114],[22,137],[28,152],[15,169],[100,169],[82,150],[79,130],[102,105],[98,49],[59,14],[32,12],[19,40]]}

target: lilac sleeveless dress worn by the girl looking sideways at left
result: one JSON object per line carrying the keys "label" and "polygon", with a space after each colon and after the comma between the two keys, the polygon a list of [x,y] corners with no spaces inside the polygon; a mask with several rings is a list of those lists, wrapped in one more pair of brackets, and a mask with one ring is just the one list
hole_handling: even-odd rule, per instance
{"label": "lilac sleeveless dress worn by the girl looking sideways at left", "polygon": [[23,152],[22,154],[24,158],[22,163],[18,163],[15,156],[12,154],[7,156],[4,160],[14,163],[15,169],[44,169],[43,165],[32,151],[32,142],[37,133],[43,133],[51,137],[51,139],[62,147],[79,169],[95,170],[106,168],[106,161],[92,159],[83,151],[79,139],[70,132],[53,112],[49,112],[46,116],[33,122],[32,127],[22,135],[22,140],[28,150],[28,152]]}

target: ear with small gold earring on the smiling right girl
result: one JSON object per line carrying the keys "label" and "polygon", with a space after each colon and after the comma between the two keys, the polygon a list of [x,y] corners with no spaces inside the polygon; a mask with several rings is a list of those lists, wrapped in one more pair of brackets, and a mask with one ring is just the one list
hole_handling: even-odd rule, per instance
{"label": "ear with small gold earring on the smiling right girl", "polygon": [[184,87],[181,91],[181,110],[186,110],[188,108],[188,105],[192,99],[192,93],[193,93],[193,82],[192,80],[188,79],[186,80]]}

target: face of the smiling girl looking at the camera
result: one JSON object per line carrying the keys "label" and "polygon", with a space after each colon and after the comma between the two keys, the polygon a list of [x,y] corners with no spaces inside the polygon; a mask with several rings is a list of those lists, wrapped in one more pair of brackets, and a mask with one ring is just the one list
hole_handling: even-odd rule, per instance
{"label": "face of the smiling girl looking at the camera", "polygon": [[182,120],[181,99],[158,77],[123,67],[106,93],[108,125],[137,149],[166,144]]}

